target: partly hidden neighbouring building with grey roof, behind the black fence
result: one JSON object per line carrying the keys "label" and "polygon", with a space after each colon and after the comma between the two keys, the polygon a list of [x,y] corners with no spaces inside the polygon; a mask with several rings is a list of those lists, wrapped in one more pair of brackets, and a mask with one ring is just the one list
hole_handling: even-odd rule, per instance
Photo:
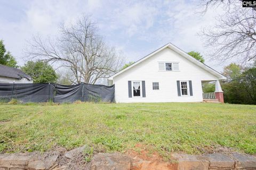
{"label": "partly hidden neighbouring building with grey roof, behind the black fence", "polygon": [[20,69],[0,64],[0,83],[33,83],[32,78]]}

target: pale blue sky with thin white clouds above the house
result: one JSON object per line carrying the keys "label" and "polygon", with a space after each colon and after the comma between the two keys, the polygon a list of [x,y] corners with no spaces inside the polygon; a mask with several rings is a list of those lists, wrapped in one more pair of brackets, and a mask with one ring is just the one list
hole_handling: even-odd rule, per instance
{"label": "pale blue sky with thin white clouds above the house", "polygon": [[185,52],[200,52],[206,64],[222,71],[228,64],[212,61],[198,36],[211,27],[219,8],[199,13],[199,0],[0,0],[0,39],[23,65],[24,49],[33,36],[58,36],[60,23],[75,22],[83,14],[97,23],[105,41],[121,51],[126,61],[137,61],[167,43]]}

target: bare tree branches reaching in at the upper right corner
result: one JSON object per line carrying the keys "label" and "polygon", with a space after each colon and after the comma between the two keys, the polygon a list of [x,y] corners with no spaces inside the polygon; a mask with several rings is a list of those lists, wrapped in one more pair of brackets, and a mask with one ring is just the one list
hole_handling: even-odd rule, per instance
{"label": "bare tree branches reaching in at the upper right corner", "polygon": [[241,0],[201,0],[205,10],[219,6],[226,10],[213,28],[204,28],[205,45],[213,50],[210,56],[220,61],[236,58],[242,63],[256,58],[256,11],[243,8]]}

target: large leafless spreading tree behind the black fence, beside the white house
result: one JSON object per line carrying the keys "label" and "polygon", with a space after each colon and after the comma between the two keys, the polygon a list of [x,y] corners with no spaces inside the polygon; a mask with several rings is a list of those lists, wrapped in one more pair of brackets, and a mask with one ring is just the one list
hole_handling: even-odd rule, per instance
{"label": "large leafless spreading tree behind the black fence, beside the white house", "polygon": [[88,16],[82,16],[76,24],[62,24],[60,31],[61,36],[55,41],[34,37],[28,56],[68,67],[75,83],[94,84],[117,72],[123,65],[121,55],[103,41]]}

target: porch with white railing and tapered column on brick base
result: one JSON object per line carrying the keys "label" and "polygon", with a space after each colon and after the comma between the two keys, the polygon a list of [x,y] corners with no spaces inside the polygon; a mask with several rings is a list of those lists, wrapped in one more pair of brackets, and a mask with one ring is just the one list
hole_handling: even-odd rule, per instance
{"label": "porch with white railing and tapered column on brick base", "polygon": [[[204,92],[203,84],[213,82],[212,85],[215,85],[214,92]],[[206,103],[224,103],[223,91],[220,86],[219,80],[215,81],[202,81],[202,89],[203,89],[203,101]],[[213,90],[212,90],[213,91]]]}

